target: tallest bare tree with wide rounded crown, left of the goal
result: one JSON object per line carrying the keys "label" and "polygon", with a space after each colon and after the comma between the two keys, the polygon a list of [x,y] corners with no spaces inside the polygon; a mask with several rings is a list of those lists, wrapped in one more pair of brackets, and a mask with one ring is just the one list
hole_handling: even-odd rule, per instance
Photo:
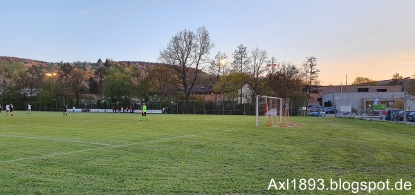
{"label": "tallest bare tree with wide rounded crown, left of the goal", "polygon": [[177,82],[185,94],[185,110],[188,111],[189,96],[196,82],[201,65],[208,61],[208,54],[214,43],[210,40],[208,30],[203,26],[196,30],[178,32],[160,51],[159,61],[172,68],[178,75]]}

